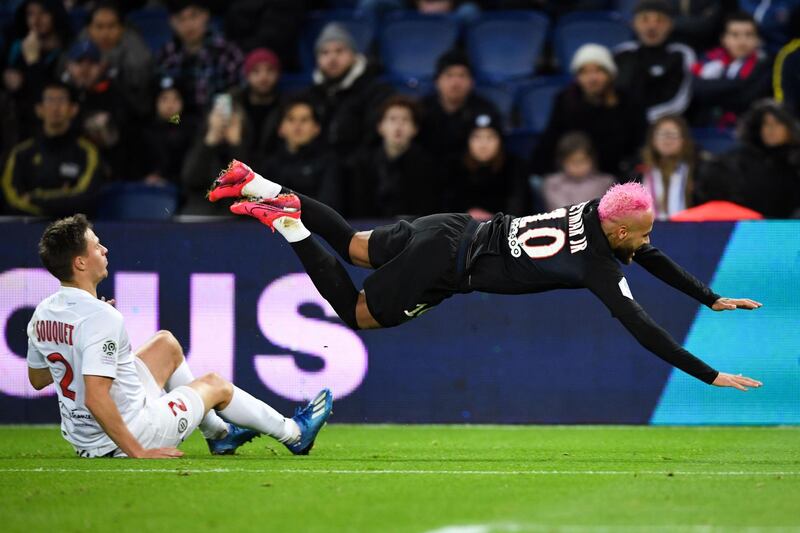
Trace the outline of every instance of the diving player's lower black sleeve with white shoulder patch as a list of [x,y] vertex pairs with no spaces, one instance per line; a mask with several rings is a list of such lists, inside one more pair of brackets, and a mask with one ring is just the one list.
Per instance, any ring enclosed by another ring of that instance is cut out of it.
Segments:
[[600,298],[643,347],[705,383],[711,384],[717,378],[716,370],[686,351],[650,318],[633,299],[628,283],[618,269],[596,269],[587,280],[587,288]]

